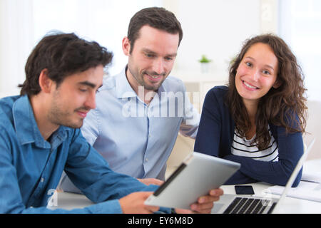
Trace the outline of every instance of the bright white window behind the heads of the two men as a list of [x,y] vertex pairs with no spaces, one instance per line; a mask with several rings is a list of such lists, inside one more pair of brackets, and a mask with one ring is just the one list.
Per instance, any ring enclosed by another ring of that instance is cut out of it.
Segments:
[[127,63],[121,41],[129,21],[140,9],[161,6],[161,0],[32,0],[34,45],[49,31],[75,32],[97,41],[114,58],[109,73],[119,73]]

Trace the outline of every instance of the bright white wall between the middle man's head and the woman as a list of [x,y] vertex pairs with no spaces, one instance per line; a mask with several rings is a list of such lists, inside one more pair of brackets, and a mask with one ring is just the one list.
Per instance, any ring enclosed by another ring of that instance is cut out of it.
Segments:
[[[170,3],[174,2],[174,3]],[[200,73],[198,60],[205,54],[213,62],[210,71],[216,80],[227,77],[228,63],[242,42],[260,33],[258,0],[177,0],[165,1],[183,27],[175,71]]]

